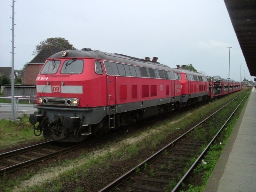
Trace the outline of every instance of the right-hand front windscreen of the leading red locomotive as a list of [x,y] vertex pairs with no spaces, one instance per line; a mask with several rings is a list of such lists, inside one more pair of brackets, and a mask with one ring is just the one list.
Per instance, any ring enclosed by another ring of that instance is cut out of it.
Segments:
[[76,60],[73,58],[72,60],[66,60],[61,68],[61,74],[80,74],[83,72],[84,61]]

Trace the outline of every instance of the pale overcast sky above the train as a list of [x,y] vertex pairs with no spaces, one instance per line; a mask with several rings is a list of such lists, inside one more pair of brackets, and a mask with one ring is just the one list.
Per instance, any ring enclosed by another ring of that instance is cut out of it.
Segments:
[[[223,0],[15,0],[14,68],[22,69],[40,41],[63,37],[133,57],[159,57],[175,68],[193,64],[208,76],[253,80]],[[11,67],[12,0],[0,3],[0,66]]]

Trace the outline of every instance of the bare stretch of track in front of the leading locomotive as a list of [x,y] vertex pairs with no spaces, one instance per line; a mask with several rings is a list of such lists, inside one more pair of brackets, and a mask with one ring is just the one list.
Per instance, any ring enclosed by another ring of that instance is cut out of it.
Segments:
[[67,153],[80,145],[83,143],[67,147],[54,141],[47,141],[0,154],[0,175]]

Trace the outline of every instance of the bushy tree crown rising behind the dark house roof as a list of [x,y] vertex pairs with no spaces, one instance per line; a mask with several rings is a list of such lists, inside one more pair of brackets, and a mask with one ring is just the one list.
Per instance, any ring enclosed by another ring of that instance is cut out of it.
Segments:
[[51,37],[47,38],[44,41],[41,41],[38,45],[36,45],[36,50],[33,51],[32,55],[37,55],[46,45],[53,45],[56,47],[61,47],[65,49],[73,49],[75,50],[76,48],[68,42],[67,39],[62,38],[62,37]]

